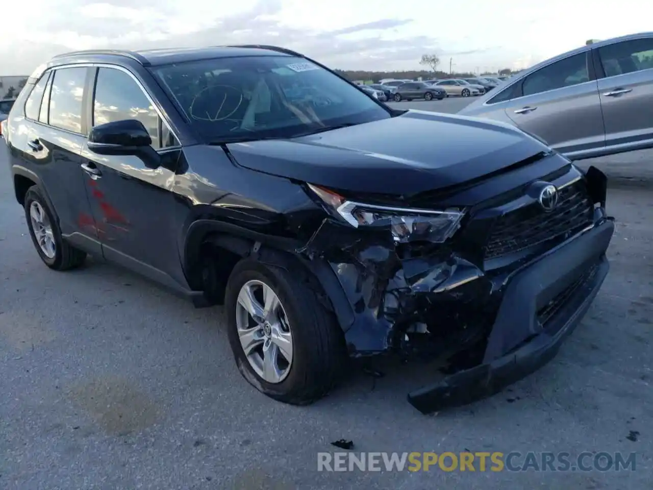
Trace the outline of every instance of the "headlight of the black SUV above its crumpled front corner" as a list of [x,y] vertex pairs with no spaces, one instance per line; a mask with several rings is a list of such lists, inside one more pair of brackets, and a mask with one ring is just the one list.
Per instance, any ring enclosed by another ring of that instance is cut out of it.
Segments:
[[308,184],[328,208],[355,228],[389,227],[398,243],[426,240],[442,243],[460,228],[464,212],[458,209],[426,210],[394,208],[349,201],[334,191]]

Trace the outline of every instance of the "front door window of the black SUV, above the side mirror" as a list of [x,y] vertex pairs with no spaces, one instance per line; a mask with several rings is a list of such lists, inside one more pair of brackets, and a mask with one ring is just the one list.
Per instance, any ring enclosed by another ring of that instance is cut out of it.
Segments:
[[172,146],[169,140],[174,138],[165,123],[162,123],[163,142],[159,140],[159,114],[135,80],[123,71],[100,68],[95,82],[93,125],[125,119],[142,122],[154,148]]

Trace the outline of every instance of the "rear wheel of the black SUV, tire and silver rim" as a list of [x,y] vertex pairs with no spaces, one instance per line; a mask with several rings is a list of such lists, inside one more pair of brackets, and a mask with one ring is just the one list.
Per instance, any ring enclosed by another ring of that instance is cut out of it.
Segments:
[[[63,240],[59,223],[54,218],[54,212],[48,206],[48,202],[44,199],[38,186],[31,186],[31,188],[27,189],[24,207],[29,236],[32,238],[34,247],[43,263],[54,270],[69,270],[80,267],[86,260],[86,252],[74,248]],[[39,209],[43,215],[43,225],[40,229],[35,229],[35,227],[39,227],[39,222],[33,219],[32,212]],[[46,242],[44,247],[39,243],[37,234],[39,237],[48,237],[41,240],[42,243]],[[52,244],[52,247],[48,246],[48,244]]]

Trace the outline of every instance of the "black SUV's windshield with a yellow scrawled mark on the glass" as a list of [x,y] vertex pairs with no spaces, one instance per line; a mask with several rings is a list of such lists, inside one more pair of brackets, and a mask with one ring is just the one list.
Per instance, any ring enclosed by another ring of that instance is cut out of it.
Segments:
[[153,73],[208,142],[293,138],[390,118],[374,99],[301,57],[204,59]]

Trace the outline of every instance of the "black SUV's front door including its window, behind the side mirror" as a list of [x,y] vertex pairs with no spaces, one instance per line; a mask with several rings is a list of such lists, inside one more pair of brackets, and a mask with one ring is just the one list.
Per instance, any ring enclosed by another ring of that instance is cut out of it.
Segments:
[[93,216],[107,260],[176,288],[185,282],[172,193],[174,163],[181,150],[173,137],[161,141],[161,134],[169,133],[161,131],[159,114],[135,78],[119,69],[100,67],[92,125],[131,118],[148,129],[153,147],[165,154],[168,168],[148,169],[136,156],[98,155],[85,145],[82,157]]

